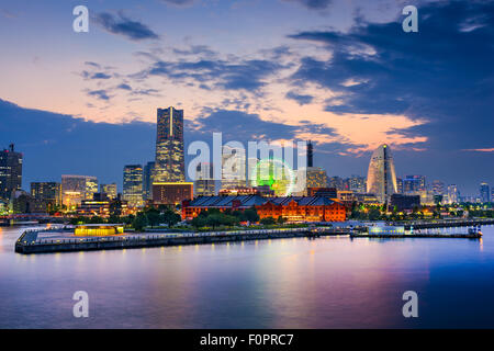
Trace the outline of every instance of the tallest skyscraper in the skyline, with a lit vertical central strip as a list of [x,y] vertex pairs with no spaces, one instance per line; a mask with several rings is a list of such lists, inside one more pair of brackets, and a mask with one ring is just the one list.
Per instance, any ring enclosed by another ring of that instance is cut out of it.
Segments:
[[184,182],[183,110],[158,109],[153,182]]

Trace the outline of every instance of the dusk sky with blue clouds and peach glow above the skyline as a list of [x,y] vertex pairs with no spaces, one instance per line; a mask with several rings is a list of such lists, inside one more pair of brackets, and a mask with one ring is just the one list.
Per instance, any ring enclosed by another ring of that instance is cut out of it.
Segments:
[[493,19],[485,0],[1,1],[0,148],[24,154],[26,189],[122,184],[172,105],[187,145],[311,139],[315,166],[349,177],[386,143],[398,177],[478,194],[494,185]]

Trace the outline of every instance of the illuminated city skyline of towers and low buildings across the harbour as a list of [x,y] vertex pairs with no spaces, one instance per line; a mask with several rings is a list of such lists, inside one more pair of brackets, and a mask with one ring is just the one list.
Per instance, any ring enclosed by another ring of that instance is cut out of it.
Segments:
[[[182,217],[191,218],[206,208],[255,206],[261,217],[341,220],[343,208],[350,211],[355,204],[385,204],[403,212],[422,205],[494,202],[494,189],[486,182],[480,184],[478,196],[461,196],[456,184],[427,183],[420,174],[397,177],[386,144],[373,151],[367,177],[340,178],[328,177],[324,168],[314,165],[314,145],[308,141],[302,167],[305,186],[296,192],[290,188],[296,179],[289,177],[283,160],[271,156],[251,159],[250,155],[247,159],[244,149],[228,144],[221,148],[221,179],[214,177],[214,163],[200,162],[194,182],[188,182],[183,133],[183,110],[158,109],[154,160],[124,166],[121,193],[116,182],[99,184],[96,177],[77,174],[63,174],[59,182],[32,182],[27,193],[22,190],[23,155],[10,145],[0,151],[0,214],[60,212],[108,217],[133,214],[148,205],[182,205]],[[252,179],[247,178],[248,165],[256,166]],[[280,170],[282,177],[274,178]],[[266,178],[259,176],[262,172]]]

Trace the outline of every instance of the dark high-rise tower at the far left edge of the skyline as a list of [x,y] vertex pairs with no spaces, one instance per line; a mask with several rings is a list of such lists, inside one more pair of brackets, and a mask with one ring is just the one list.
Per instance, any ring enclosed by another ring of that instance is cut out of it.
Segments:
[[12,191],[22,186],[22,154],[14,151],[11,144],[9,149],[0,151],[0,200],[9,201]]

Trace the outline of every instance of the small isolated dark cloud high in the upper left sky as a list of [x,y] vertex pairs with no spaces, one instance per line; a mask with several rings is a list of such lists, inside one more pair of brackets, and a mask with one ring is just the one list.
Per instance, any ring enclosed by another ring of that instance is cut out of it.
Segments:
[[122,13],[113,15],[108,12],[97,14],[96,22],[106,32],[122,35],[131,41],[157,39],[159,35],[153,32],[147,25],[138,21],[133,21]]

